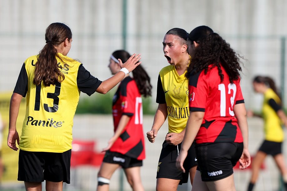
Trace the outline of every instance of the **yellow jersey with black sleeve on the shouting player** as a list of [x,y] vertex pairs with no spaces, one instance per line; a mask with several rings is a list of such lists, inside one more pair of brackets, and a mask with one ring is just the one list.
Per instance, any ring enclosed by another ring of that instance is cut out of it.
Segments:
[[166,66],[158,76],[156,102],[166,103],[168,132],[180,133],[186,127],[189,117],[188,79],[179,76],[175,66]]

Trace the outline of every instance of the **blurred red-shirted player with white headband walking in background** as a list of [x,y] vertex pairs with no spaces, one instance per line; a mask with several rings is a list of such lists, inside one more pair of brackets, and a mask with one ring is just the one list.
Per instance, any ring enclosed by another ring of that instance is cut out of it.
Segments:
[[[109,68],[112,74],[121,70],[118,59],[126,61],[130,54],[125,50],[112,53]],[[151,96],[150,77],[141,66],[126,75],[113,97],[112,114],[115,134],[108,142],[103,163],[98,173],[98,191],[109,190],[112,174],[121,166],[133,190],[144,190],[140,167],[145,159],[145,142],[142,129],[142,99]]]

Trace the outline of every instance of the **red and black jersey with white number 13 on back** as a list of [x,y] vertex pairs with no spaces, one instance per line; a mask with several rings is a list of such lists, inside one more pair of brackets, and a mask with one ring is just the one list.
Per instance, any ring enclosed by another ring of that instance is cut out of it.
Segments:
[[244,103],[240,79],[230,83],[229,76],[221,66],[223,81],[218,68],[210,65],[189,77],[190,111],[205,112],[204,119],[196,135],[197,144],[213,142],[243,142],[233,107]]

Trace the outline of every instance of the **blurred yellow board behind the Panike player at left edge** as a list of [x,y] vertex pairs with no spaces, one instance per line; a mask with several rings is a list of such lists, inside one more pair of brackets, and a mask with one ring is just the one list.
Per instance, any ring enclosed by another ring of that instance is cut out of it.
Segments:
[[[14,151],[7,146],[7,135],[9,130],[8,126],[9,105],[12,93],[13,93],[12,91],[0,92],[0,113],[2,115],[2,121],[4,123],[3,140],[2,143],[0,143],[2,144],[1,155],[5,169],[2,177],[3,183],[17,181],[17,175],[18,175],[19,150]],[[25,118],[25,113],[26,113],[26,98],[22,98],[16,124],[16,129],[19,133],[19,136],[21,135],[22,132],[22,124]]]

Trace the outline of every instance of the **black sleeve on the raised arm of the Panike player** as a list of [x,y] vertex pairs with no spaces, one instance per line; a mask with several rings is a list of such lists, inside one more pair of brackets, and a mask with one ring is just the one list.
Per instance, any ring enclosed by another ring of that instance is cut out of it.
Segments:
[[83,64],[79,66],[77,85],[80,91],[91,96],[101,85],[101,82],[102,81],[92,76],[90,72],[84,68]]

